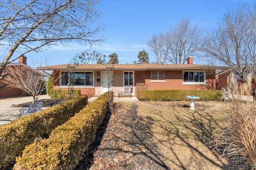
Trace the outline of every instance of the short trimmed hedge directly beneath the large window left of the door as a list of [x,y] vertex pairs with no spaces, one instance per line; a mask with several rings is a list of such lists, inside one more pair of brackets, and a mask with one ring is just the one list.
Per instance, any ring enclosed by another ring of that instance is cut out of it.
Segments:
[[[81,90],[74,90],[74,98],[78,98],[80,96]],[[70,96],[68,95],[67,89],[61,90],[51,90],[48,94],[53,100],[60,100],[60,99],[69,99]]]

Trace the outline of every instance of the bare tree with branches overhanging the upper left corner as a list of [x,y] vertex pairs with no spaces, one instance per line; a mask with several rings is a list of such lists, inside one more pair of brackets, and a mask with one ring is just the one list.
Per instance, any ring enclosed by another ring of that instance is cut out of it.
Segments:
[[[100,43],[96,35],[102,25],[98,0],[4,0],[0,2],[0,45],[4,47],[0,80],[6,64],[30,51],[42,51],[52,45]],[[14,57],[11,59],[11,57]],[[2,88],[2,87],[0,87]]]

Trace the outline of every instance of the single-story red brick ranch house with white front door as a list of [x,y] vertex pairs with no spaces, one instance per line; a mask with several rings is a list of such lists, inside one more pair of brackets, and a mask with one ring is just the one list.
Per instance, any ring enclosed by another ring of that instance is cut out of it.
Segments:
[[[215,89],[215,70],[210,66],[193,64],[114,64],[114,96],[118,89],[128,87],[132,96],[137,96],[138,83],[147,84],[148,89]],[[38,70],[53,70],[54,89],[68,89],[67,65],[38,67]],[[88,97],[100,96],[108,91],[106,67],[101,64],[82,64],[75,72],[74,90]],[[56,80],[57,79],[57,80]]]

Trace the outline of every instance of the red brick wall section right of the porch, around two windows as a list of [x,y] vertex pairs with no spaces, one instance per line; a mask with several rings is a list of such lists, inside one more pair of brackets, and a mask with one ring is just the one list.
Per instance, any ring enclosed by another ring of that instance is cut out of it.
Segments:
[[165,82],[150,82],[151,71],[135,71],[135,96],[137,96],[137,83],[148,84],[148,89],[215,89],[215,74],[206,72],[206,82],[208,85],[183,84],[183,71],[165,71]]

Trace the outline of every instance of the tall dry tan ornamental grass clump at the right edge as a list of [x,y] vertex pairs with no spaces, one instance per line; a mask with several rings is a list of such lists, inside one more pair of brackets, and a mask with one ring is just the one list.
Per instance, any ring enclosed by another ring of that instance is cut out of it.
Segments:
[[238,86],[234,76],[230,78],[228,92],[232,100],[227,103],[231,108],[228,124],[226,127],[214,127],[209,143],[233,167],[243,169],[256,168],[256,103],[253,100],[244,101],[244,96],[247,99],[251,96],[251,79],[249,74],[249,83]]

